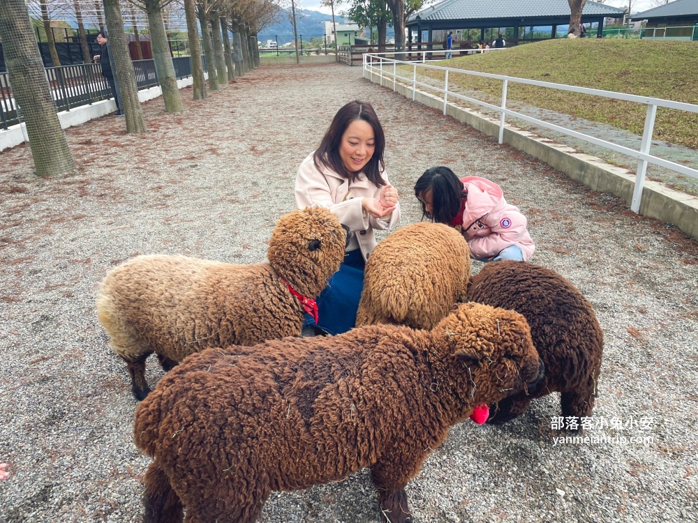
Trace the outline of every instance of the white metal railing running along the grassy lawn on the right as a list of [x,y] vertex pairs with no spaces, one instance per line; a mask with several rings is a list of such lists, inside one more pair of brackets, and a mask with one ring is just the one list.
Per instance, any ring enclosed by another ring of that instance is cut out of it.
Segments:
[[[383,84],[383,79],[392,79],[393,91],[396,90],[396,84],[398,79],[401,84],[412,87],[412,99],[415,100],[417,93],[417,86],[429,89],[431,91],[436,91],[443,95],[443,114],[446,114],[446,109],[448,107],[448,98],[456,98],[463,100],[468,103],[475,105],[480,105],[481,107],[487,107],[500,114],[499,121],[499,143],[504,142],[504,126],[505,119],[507,116],[512,116],[529,123],[533,123],[537,126],[554,130],[560,132],[563,135],[571,136],[577,139],[584,140],[584,142],[589,142],[598,146],[602,146],[606,149],[611,149],[611,151],[616,151],[630,156],[631,158],[636,158],[637,163],[637,174],[635,176],[634,190],[632,192],[632,202],[630,204],[630,209],[635,213],[639,213],[640,201],[642,197],[642,189],[644,187],[645,174],[647,172],[647,165],[649,163],[653,165],[658,165],[666,169],[670,169],[674,172],[679,172],[685,174],[686,176],[691,176],[693,178],[698,178],[698,170],[691,169],[685,165],[679,163],[671,162],[669,160],[664,160],[664,158],[659,158],[658,156],[653,156],[650,154],[650,147],[652,144],[652,133],[654,130],[655,117],[657,116],[657,107],[667,107],[668,109],[678,109],[679,111],[687,111],[692,113],[698,113],[698,105],[693,105],[690,103],[674,102],[672,100],[664,100],[663,98],[651,98],[648,96],[637,96],[633,94],[616,93],[614,91],[603,91],[602,89],[591,89],[588,87],[579,87],[566,84],[554,84],[551,82],[540,82],[539,80],[530,80],[526,78],[516,78],[505,75],[493,75],[491,73],[480,73],[479,71],[470,71],[465,69],[456,69],[450,67],[433,66],[428,63],[418,63],[417,61],[401,61],[393,58],[388,58],[387,56],[381,56],[384,54],[407,54],[407,52],[392,52],[392,53],[373,53],[364,54],[364,76],[366,73],[371,75],[380,76],[380,84]],[[398,74],[398,66],[404,68],[412,68],[412,77],[403,77]],[[424,82],[417,81],[417,67],[443,71],[444,73],[444,86],[443,89],[440,87],[433,86],[431,84],[425,84]],[[463,74],[463,75],[473,75],[484,78],[491,78],[501,80],[503,82],[502,86],[502,99],[501,105],[493,105],[491,103],[483,102],[482,100],[477,100],[475,98],[470,98],[470,96],[464,96],[460,93],[454,91],[449,91],[448,89],[448,77],[449,73],[452,74]],[[615,100],[626,100],[628,102],[641,103],[647,106],[647,113],[644,123],[644,132],[642,134],[642,142],[640,145],[640,150],[630,149],[622,145],[614,144],[613,142],[607,142],[604,139],[593,137],[591,135],[586,135],[583,132],[578,132],[575,130],[567,129],[561,126],[556,126],[554,123],[549,123],[533,116],[528,116],[527,114],[522,114],[520,112],[512,111],[507,109],[507,88],[509,83],[526,84],[538,87],[545,87],[548,89],[557,89],[560,91],[569,91],[572,93],[582,93],[593,96],[601,96],[603,98],[614,98]]]

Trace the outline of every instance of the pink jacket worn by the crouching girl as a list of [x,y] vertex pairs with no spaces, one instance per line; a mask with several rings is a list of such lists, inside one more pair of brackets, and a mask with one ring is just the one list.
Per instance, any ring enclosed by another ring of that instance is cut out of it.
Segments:
[[477,259],[493,258],[510,245],[517,245],[523,259],[528,260],[535,243],[526,229],[526,216],[507,204],[496,183],[480,176],[466,176],[461,181],[468,191],[461,232],[470,245],[470,254]]

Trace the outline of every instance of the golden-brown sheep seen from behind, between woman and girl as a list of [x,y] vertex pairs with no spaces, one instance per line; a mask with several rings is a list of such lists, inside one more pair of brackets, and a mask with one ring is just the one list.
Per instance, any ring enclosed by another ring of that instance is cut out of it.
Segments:
[[466,294],[468,242],[452,227],[419,222],[397,229],[366,261],[356,324],[433,328]]

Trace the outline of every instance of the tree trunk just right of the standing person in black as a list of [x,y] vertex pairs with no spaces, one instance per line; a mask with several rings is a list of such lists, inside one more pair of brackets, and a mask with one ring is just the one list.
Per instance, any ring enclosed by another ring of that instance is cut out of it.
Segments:
[[128,53],[124,20],[121,19],[119,0],[104,0],[104,17],[109,31],[110,59],[114,80],[121,91],[121,110],[126,113],[126,132],[140,134],[146,132],[143,110],[138,100],[138,86],[135,83],[131,54]]

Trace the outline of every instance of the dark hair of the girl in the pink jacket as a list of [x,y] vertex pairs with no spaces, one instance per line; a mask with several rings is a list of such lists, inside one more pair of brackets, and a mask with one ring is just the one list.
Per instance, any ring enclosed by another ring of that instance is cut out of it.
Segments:
[[[426,211],[422,196],[431,191],[431,213]],[[431,167],[415,183],[415,196],[422,204],[422,220],[450,224],[461,211],[463,182],[448,167]]]

